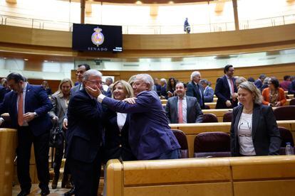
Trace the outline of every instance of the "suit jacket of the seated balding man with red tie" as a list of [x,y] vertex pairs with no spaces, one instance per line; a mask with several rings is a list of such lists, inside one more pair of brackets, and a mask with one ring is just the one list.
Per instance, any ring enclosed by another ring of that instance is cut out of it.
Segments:
[[[195,97],[186,97],[187,99],[187,123],[201,123],[203,113],[200,104]],[[170,97],[167,101],[165,111],[169,123],[178,123],[178,97]]]

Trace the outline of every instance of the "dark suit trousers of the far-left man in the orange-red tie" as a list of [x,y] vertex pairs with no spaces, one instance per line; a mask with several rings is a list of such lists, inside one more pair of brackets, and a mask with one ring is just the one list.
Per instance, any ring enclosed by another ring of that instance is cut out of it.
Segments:
[[31,178],[29,173],[31,146],[33,143],[39,187],[41,190],[48,190],[49,168],[49,131],[41,136],[33,136],[29,126],[19,126],[17,131],[19,145],[16,148],[17,154],[17,176],[21,190],[31,189]]

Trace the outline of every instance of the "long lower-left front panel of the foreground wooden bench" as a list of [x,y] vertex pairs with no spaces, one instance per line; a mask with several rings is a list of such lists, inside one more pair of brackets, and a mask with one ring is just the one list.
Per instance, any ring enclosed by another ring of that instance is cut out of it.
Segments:
[[230,183],[205,183],[187,185],[161,185],[148,187],[125,187],[124,196],[231,196],[232,188]]

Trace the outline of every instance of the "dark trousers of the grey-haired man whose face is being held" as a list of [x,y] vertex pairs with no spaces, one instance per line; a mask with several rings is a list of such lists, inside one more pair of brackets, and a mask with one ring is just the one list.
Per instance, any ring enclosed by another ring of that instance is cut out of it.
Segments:
[[68,157],[76,196],[97,196],[101,170],[101,153],[98,151],[92,163]]

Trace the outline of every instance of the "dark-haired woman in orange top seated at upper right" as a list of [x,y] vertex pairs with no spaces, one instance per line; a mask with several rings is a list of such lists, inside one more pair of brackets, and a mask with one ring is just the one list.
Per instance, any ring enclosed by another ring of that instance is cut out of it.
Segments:
[[280,107],[286,103],[284,89],[279,87],[279,80],[271,77],[269,87],[262,92],[263,104],[271,107]]

